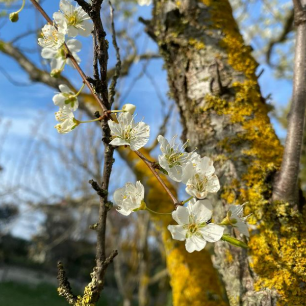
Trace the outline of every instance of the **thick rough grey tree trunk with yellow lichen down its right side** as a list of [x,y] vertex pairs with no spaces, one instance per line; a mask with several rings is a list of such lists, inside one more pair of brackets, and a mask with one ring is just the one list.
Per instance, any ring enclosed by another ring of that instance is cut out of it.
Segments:
[[215,219],[224,216],[228,204],[249,202],[250,250],[224,242],[215,246],[214,263],[231,305],[303,305],[305,214],[271,201],[283,148],[260,93],[258,64],[244,45],[230,4],[156,1],[152,20],[143,22],[164,58],[184,141],[213,158],[218,169],[222,189],[212,198]]

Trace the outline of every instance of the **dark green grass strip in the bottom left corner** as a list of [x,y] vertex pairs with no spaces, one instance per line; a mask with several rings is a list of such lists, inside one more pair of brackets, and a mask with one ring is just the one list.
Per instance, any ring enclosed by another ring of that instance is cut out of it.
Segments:
[[[48,284],[38,286],[0,283],[0,305],[3,306],[68,306],[64,298],[57,295],[56,287]],[[102,301],[100,306],[107,306]]]

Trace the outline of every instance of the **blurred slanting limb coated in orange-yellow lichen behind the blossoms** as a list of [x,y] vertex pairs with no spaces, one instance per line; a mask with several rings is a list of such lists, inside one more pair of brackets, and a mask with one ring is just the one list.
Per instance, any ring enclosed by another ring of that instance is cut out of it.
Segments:
[[[158,212],[173,211],[173,203],[169,195],[161,187],[156,177],[150,172],[136,154],[129,148],[119,148],[120,155],[131,166],[138,180],[146,188],[147,206]],[[152,160],[145,149],[142,154]],[[175,194],[174,187],[163,176],[164,181]],[[184,242],[173,240],[167,226],[174,223],[170,216],[151,215],[156,227],[162,233],[166,250],[166,262],[172,287],[174,306],[225,306],[222,300],[218,275],[213,268],[211,256],[207,250],[188,253]]]

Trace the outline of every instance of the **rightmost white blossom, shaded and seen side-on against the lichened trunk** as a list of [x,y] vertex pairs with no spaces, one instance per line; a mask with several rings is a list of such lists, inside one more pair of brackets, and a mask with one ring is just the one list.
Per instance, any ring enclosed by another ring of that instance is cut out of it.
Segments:
[[249,237],[250,235],[246,224],[249,215],[245,217],[243,216],[243,207],[245,204],[246,203],[243,205],[230,205],[230,210],[227,212],[225,222],[222,221],[222,223],[224,223],[224,225],[232,225],[233,227],[236,227],[241,234]]

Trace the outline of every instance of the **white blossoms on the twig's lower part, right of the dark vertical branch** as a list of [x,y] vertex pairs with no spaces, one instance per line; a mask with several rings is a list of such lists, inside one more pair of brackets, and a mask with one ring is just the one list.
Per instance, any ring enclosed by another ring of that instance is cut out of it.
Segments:
[[[116,120],[108,121],[113,137],[110,144],[130,146],[133,151],[146,145],[150,127],[142,121],[135,122],[133,113],[122,112]],[[175,142],[176,137],[170,142],[162,135],[157,138],[161,149],[159,167],[173,181],[185,184],[185,191],[190,195],[188,200],[181,202],[182,205],[172,212],[172,218],[177,223],[168,225],[172,238],[185,241],[186,250],[193,252],[203,249],[207,242],[217,242],[224,238],[225,226],[236,227],[240,233],[249,236],[246,225],[248,216],[243,216],[243,205],[231,205],[221,223],[212,222],[213,206],[206,197],[220,189],[213,161],[208,157],[201,157],[195,151],[187,152],[188,141],[178,145]],[[144,186],[140,181],[136,185],[126,183],[123,188],[115,191],[113,199],[118,206],[117,211],[124,216],[139,210],[149,210],[144,202]],[[184,206],[186,202],[188,204]]]

